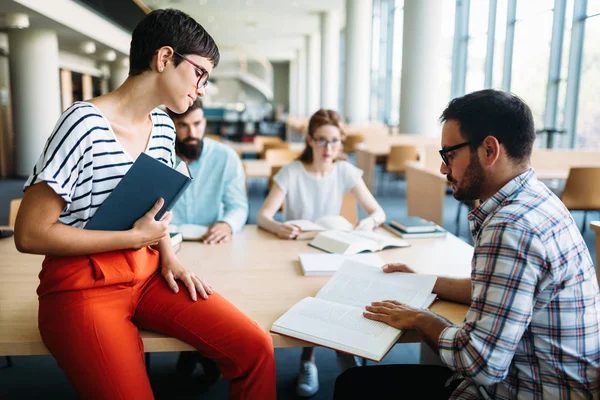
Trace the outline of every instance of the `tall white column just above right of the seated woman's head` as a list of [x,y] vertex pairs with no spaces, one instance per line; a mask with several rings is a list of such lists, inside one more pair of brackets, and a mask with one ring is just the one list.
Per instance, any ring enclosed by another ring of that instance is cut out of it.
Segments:
[[355,124],[369,121],[372,19],[372,0],[346,0],[344,116]]

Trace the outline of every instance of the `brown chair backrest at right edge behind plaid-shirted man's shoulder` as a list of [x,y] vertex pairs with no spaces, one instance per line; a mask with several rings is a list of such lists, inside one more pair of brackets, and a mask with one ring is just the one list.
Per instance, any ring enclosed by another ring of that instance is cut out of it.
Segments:
[[600,210],[600,167],[571,168],[561,200],[569,210]]

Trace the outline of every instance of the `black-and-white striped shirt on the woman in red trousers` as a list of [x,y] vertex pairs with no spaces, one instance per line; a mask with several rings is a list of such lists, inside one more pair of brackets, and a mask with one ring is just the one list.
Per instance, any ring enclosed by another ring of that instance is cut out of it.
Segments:
[[[152,133],[144,152],[173,168],[173,121],[159,109],[151,118]],[[76,102],[56,123],[23,191],[46,182],[66,202],[58,221],[83,228],[133,162],[102,112],[91,103]]]

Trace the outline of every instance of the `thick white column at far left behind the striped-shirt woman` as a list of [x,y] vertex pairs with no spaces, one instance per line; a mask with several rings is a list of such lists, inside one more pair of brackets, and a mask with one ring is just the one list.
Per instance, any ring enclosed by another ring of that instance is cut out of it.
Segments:
[[9,65],[15,130],[15,173],[33,171],[60,117],[60,73],[56,32],[11,30]]

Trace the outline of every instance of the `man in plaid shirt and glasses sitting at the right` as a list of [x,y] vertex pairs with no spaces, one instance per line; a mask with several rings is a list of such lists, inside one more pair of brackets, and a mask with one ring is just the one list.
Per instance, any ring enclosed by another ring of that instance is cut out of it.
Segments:
[[530,168],[531,110],[483,90],[451,101],[441,121],[440,171],[457,200],[482,204],[469,215],[471,278],[439,277],[434,292],[469,312],[453,326],[394,301],[367,306],[369,319],[417,330],[445,366],[353,368],[335,398],[597,399],[596,272],[571,214]]

